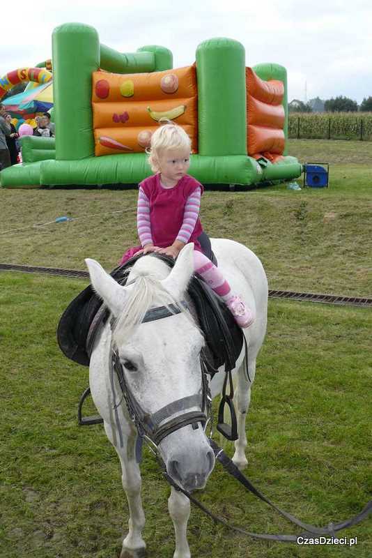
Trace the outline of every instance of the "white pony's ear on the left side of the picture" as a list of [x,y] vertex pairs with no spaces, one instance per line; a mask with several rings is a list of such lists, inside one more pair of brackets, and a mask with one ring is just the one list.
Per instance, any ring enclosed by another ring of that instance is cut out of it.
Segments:
[[125,306],[125,288],[118,285],[116,280],[106,273],[95,259],[86,258],[85,263],[91,276],[93,289],[100,295],[112,314],[117,317],[123,312]]

